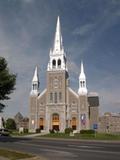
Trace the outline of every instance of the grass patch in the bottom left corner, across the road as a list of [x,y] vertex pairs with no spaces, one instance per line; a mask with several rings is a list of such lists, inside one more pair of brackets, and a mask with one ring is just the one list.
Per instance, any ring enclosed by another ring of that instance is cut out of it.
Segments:
[[34,157],[33,155],[30,154],[21,153],[17,151],[10,151],[2,148],[0,148],[0,156],[9,158],[10,160],[19,160],[19,159]]

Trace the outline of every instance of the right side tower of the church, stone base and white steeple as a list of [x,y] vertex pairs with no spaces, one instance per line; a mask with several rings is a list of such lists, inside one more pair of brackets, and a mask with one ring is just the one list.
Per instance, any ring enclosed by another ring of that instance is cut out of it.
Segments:
[[84,73],[83,62],[81,62],[81,71],[79,76],[79,119],[80,119],[80,130],[89,129],[89,106],[87,96],[86,76]]

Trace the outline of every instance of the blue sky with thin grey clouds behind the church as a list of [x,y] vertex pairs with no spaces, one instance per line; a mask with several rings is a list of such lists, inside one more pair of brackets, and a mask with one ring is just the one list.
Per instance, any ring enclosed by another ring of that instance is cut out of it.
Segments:
[[16,90],[6,102],[4,115],[28,114],[36,65],[40,91],[45,88],[58,15],[71,88],[78,90],[83,60],[87,88],[100,96],[100,114],[120,112],[119,0],[0,0],[0,56],[17,74]]

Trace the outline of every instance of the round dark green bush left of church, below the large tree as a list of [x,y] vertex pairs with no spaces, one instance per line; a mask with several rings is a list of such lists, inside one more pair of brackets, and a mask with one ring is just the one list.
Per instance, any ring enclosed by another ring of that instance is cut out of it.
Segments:
[[5,128],[11,129],[11,130],[16,129],[16,123],[15,123],[14,119],[8,118],[5,123]]

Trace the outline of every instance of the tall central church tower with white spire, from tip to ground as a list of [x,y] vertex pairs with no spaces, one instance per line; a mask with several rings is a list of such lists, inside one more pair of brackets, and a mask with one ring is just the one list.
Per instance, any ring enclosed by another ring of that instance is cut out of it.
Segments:
[[[66,54],[64,52],[60,18],[57,19],[56,33],[53,48],[50,49],[50,59],[47,67],[47,130],[64,131],[66,124],[66,92],[68,71]],[[57,119],[55,122],[54,119]]]

